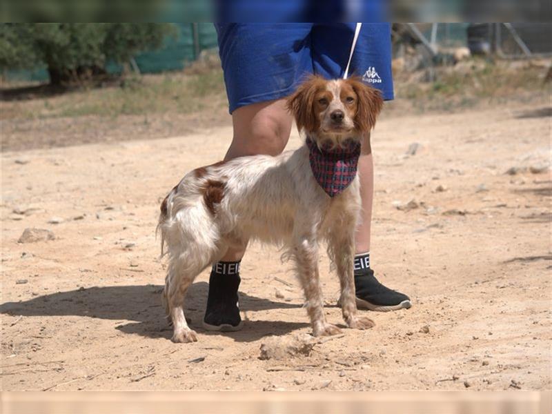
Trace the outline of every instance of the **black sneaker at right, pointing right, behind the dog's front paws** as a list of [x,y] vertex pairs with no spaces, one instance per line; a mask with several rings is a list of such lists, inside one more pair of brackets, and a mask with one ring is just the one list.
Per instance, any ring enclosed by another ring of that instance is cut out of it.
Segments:
[[355,270],[355,293],[359,309],[388,312],[412,306],[410,298],[404,293],[386,288],[378,282],[371,268]]

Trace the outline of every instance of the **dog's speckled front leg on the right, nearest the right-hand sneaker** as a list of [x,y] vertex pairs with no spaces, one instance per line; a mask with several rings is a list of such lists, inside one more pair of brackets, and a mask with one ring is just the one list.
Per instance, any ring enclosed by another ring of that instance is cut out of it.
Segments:
[[375,326],[372,319],[357,315],[355,299],[355,234],[352,226],[341,226],[333,229],[328,249],[333,251],[333,258],[339,285],[341,286],[341,303],[343,319],[349,328],[368,329]]

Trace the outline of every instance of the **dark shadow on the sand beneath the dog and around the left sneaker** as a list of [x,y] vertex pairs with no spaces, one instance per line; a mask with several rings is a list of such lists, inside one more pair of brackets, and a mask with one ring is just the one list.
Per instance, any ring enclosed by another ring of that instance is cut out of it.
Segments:
[[[165,319],[161,307],[160,285],[141,286],[105,286],[79,288],[68,292],[52,293],[23,302],[6,302],[0,305],[0,313],[12,316],[67,316],[75,315],[99,319],[120,320],[115,326],[121,332],[142,335],[150,338],[170,338],[172,328]],[[208,335],[228,335],[238,342],[251,342],[266,335],[284,335],[298,328],[308,326],[305,323],[246,321],[242,331],[234,333],[213,333],[201,328],[207,300],[208,284],[198,282],[190,286],[185,301],[186,317],[192,319],[191,328]],[[239,293],[242,311],[264,311],[268,309],[301,308],[302,304],[273,302]],[[299,312],[301,312],[299,310]],[[134,322],[128,322],[134,321]]]

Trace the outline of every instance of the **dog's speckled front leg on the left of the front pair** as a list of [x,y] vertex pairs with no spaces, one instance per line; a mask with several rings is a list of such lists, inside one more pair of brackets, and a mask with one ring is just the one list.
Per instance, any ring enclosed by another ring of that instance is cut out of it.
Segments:
[[318,273],[318,244],[314,237],[297,237],[293,247],[299,281],[303,286],[306,311],[313,324],[313,335],[336,335],[337,326],[326,323],[322,302],[322,288]]

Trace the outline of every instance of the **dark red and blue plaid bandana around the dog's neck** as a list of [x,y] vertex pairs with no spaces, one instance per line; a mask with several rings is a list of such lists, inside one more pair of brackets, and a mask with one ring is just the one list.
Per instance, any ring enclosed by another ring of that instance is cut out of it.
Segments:
[[330,197],[341,194],[357,175],[360,143],[351,141],[342,148],[318,148],[315,141],[306,139],[308,161],[315,180]]

